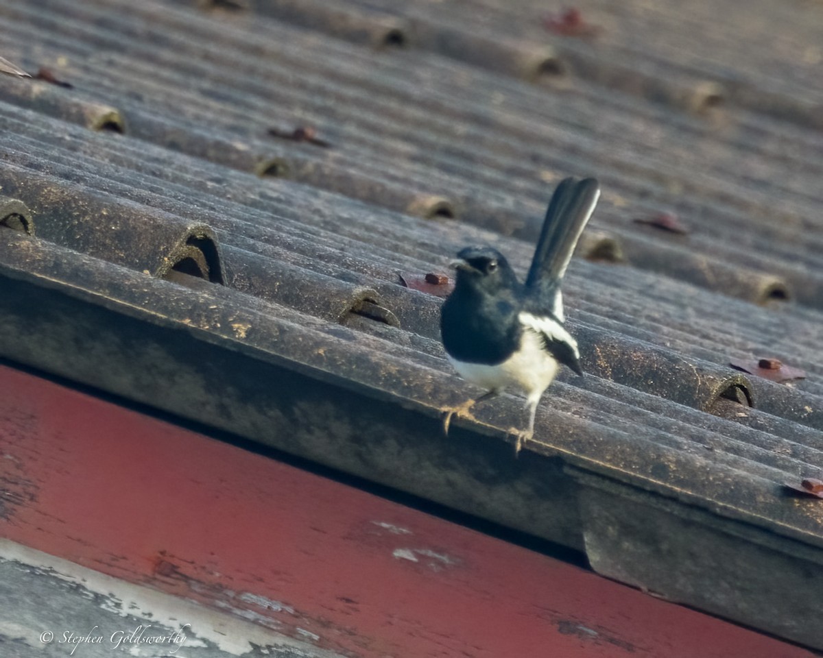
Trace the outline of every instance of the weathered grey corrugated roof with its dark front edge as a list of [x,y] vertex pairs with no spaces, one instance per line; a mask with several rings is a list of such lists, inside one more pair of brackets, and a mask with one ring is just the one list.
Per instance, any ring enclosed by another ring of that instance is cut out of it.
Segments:
[[[823,9],[395,4],[2,3],[3,56],[72,85],[0,79],[2,355],[823,646],[823,505],[781,489],[823,476]],[[474,242],[524,271],[569,174],[604,189],[565,286],[588,375],[516,461],[516,397],[446,439],[472,390],[400,275]],[[760,358],[807,378],[729,367]]]

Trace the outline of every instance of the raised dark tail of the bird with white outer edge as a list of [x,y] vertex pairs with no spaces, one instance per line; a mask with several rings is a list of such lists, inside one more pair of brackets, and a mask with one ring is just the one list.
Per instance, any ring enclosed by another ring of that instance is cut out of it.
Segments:
[[[600,197],[600,185],[595,178],[564,178],[557,186],[546,210],[546,219],[537,240],[532,266],[526,278],[530,296],[539,296],[558,307],[555,313],[562,321],[560,280],[569,266],[574,247],[592,216]],[[553,298],[557,298],[557,303]]]

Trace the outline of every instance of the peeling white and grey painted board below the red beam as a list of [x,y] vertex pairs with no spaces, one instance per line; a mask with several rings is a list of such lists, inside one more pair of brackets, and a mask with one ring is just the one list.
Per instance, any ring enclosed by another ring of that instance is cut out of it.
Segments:
[[[0,539],[0,571],[2,587],[6,588],[3,595],[20,597],[20,605],[0,606],[0,636],[44,651],[44,656],[67,656],[70,649],[60,640],[62,633],[71,631],[103,637],[100,643],[78,644],[76,656],[109,658],[119,654],[114,647],[119,638],[135,630],[139,634],[142,628],[144,636],[170,636],[182,629],[185,640],[179,644],[181,651],[174,651],[177,645],[170,642],[163,647],[163,655],[168,656],[341,658],[234,615],[106,576],[9,540]],[[53,641],[44,643],[44,633],[53,633]],[[318,639],[312,636],[309,633],[306,637]],[[121,650],[126,646],[124,643]],[[160,646],[132,644],[128,653],[157,656]]]

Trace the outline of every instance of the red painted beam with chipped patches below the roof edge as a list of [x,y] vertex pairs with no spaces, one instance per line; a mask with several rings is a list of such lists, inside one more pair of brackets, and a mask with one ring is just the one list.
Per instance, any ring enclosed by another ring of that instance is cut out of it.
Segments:
[[0,367],[0,534],[364,658],[811,658]]

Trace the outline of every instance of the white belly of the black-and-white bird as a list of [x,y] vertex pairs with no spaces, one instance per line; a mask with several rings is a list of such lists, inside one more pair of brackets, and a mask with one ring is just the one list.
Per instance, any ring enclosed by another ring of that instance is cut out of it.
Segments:
[[523,331],[520,349],[509,359],[497,365],[469,364],[455,361],[449,354],[449,361],[459,375],[467,382],[490,391],[514,388],[525,392],[529,399],[539,398],[554,380],[558,363],[543,348],[542,340],[534,331]]

